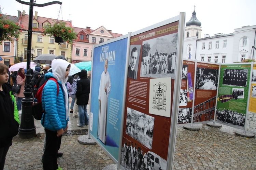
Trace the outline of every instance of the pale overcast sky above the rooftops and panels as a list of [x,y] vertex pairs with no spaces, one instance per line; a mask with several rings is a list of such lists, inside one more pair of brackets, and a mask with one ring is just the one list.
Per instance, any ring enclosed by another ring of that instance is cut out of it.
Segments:
[[[29,0],[23,0],[29,2]],[[54,1],[54,0],[53,0]],[[256,0],[59,0],[62,2],[62,15],[59,19],[72,20],[74,27],[97,29],[104,26],[113,33],[128,34],[155,23],[186,13],[186,22],[192,12],[197,13],[197,19],[202,23],[202,37],[204,34],[214,36],[216,33],[228,34],[242,26],[256,25]],[[52,2],[36,0],[37,4]],[[2,13],[17,16],[17,11],[26,11],[29,6],[15,0],[0,0]],[[58,18],[59,4],[45,7],[34,7],[38,16]]]

